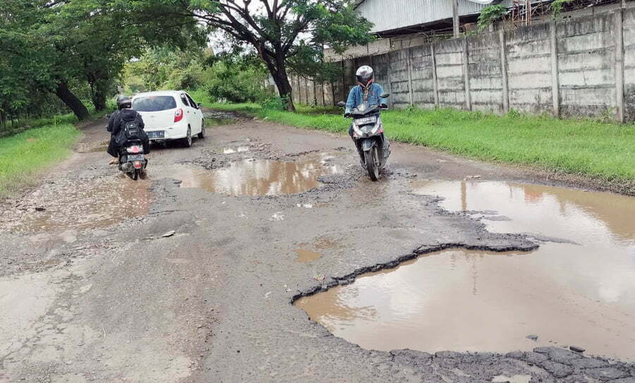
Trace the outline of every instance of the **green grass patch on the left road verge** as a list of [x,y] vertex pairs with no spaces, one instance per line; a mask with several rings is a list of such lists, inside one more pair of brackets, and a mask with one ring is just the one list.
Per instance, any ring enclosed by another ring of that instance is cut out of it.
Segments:
[[61,123],[0,138],[0,197],[15,193],[42,170],[68,157],[79,135],[71,123]]

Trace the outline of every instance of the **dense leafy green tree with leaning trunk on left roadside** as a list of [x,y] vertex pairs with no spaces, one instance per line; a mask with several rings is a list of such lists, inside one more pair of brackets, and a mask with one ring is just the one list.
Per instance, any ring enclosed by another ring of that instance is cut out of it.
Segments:
[[158,4],[138,13],[131,12],[134,3],[6,0],[0,8],[0,56],[20,68],[10,74],[13,92],[21,84],[53,92],[79,119],[87,119],[90,114],[73,85],[87,84],[95,109],[101,110],[123,64],[145,47],[205,41],[196,20],[175,16],[174,6]]

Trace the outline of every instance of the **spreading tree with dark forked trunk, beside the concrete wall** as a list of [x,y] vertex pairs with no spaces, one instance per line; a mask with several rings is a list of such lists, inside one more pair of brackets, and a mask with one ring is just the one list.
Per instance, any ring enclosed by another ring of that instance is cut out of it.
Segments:
[[[148,1],[147,6],[156,4]],[[351,0],[161,0],[181,3],[182,11],[224,32],[234,45],[253,47],[272,75],[286,109],[294,111],[288,69],[318,76],[329,71],[325,45],[344,51],[366,44],[372,24]],[[181,13],[183,14],[183,13]]]

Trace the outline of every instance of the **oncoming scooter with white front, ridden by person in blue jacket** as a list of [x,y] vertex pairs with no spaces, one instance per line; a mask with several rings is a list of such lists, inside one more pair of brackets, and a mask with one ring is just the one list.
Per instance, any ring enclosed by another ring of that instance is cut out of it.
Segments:
[[[389,97],[383,94],[382,98]],[[338,102],[338,107],[346,107],[346,103]],[[390,143],[384,135],[379,105],[370,105],[367,101],[351,109],[353,118],[353,141],[359,153],[362,166],[368,171],[371,180],[377,181],[390,155]]]

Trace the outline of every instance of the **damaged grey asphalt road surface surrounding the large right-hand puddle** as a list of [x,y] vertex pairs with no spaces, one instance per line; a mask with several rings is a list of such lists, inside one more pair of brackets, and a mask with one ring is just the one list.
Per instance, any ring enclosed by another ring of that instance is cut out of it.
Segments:
[[490,231],[411,187],[536,181],[526,174],[395,144],[373,183],[347,137],[243,119],[190,149],[155,147],[134,183],[95,149],[103,126],[1,205],[0,382],[635,379],[630,362],[560,345],[366,350],[292,304],[437,250],[536,250],[536,236]]

